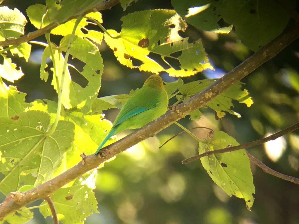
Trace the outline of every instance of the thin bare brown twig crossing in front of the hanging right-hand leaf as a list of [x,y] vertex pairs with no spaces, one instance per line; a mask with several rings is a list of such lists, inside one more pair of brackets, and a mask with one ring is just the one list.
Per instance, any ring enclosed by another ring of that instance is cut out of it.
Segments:
[[255,145],[260,145],[260,144],[263,144],[265,142],[269,142],[270,140],[277,139],[278,137],[283,136],[283,135],[285,135],[289,132],[292,132],[292,131],[294,131],[298,128],[299,128],[299,122],[292,125],[292,126],[290,126],[289,128],[286,128],[282,131],[278,131],[275,134],[272,134],[272,135],[270,135],[266,138],[255,140],[253,142],[249,142],[249,143],[246,143],[246,144],[243,144],[243,145],[237,145],[237,146],[217,149],[217,150],[213,150],[213,151],[206,151],[206,152],[204,152],[202,154],[199,154],[197,156],[193,156],[193,157],[190,157],[188,159],[184,159],[182,161],[182,163],[189,163],[189,162],[192,162],[196,159],[200,159],[202,157],[213,155],[213,154],[224,153],[224,152],[232,152],[232,151],[236,151],[236,150],[239,150],[239,149],[242,149],[242,148],[249,148],[249,147],[252,147],[252,146],[255,146]]

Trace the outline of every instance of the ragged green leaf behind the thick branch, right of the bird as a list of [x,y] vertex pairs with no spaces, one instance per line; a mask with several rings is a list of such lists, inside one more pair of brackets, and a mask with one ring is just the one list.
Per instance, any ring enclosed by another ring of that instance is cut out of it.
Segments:
[[[199,81],[189,82],[184,84],[179,91],[183,95],[183,99],[188,99],[201,90],[208,87],[215,82],[216,79],[203,79]],[[248,107],[253,103],[251,96],[246,89],[241,90],[241,82],[237,82],[223,93],[217,95],[214,99],[207,103],[207,106],[216,112],[216,116],[220,119],[225,116],[223,111],[227,111],[230,114],[241,117],[241,115],[231,108],[234,106],[232,100],[237,100],[239,103],[245,103]]]

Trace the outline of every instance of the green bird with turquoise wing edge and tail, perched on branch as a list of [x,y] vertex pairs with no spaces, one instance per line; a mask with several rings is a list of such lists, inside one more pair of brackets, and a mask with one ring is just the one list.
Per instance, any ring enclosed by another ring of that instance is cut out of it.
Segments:
[[141,128],[147,123],[163,115],[168,106],[168,95],[163,80],[152,75],[145,80],[143,86],[123,104],[113,122],[113,126],[95,154],[98,154],[107,140],[125,129]]

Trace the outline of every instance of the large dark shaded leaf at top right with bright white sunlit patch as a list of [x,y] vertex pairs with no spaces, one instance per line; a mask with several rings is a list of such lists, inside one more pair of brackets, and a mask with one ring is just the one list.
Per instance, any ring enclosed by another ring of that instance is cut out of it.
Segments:
[[[290,18],[285,9],[295,7],[295,1],[284,1],[282,4],[286,6],[281,7],[271,0],[172,0],[171,3],[188,23],[200,29],[219,31],[219,24],[234,25],[238,38],[254,51],[282,32]],[[220,31],[225,32],[222,27]]]

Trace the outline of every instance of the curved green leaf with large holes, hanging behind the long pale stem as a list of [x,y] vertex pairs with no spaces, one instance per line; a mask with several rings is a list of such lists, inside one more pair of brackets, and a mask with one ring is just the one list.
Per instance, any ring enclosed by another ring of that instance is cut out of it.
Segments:
[[[69,35],[62,38],[59,49],[65,51],[68,44]],[[80,74],[88,81],[86,87],[71,82],[69,86],[69,98],[71,107],[78,107],[85,114],[88,113],[92,102],[97,98],[97,93],[101,86],[101,76],[103,73],[103,59],[97,47],[91,42],[74,36],[70,54],[85,63]],[[59,79],[61,79],[59,77]]]

